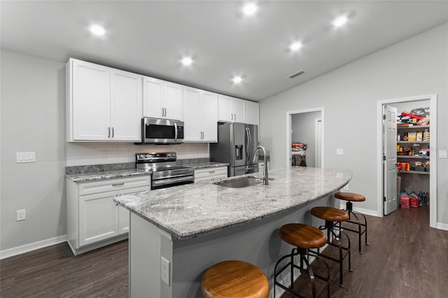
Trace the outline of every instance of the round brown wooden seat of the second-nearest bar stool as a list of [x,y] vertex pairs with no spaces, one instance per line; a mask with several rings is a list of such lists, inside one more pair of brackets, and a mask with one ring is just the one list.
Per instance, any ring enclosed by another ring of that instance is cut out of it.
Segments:
[[281,226],[279,236],[286,243],[298,248],[321,248],[327,243],[327,236],[320,229],[299,223]]

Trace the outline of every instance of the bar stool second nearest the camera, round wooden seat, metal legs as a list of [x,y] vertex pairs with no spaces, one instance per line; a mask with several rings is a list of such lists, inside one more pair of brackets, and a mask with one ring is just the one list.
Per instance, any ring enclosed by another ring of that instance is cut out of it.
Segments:
[[[288,225],[281,226],[279,230],[280,238],[289,243],[292,246],[295,246],[293,250],[291,250],[290,255],[284,255],[281,257],[275,264],[274,267],[274,297],[275,297],[275,286],[278,285],[283,290],[286,290],[290,295],[294,295],[295,297],[302,297],[299,293],[293,290],[294,285],[294,269],[299,269],[300,273],[306,272],[309,274],[309,278],[311,279],[311,291],[313,297],[316,297],[316,278],[323,281],[327,288],[327,296],[330,297],[330,269],[328,268],[327,263],[321,259],[321,257],[316,256],[318,260],[321,260],[325,267],[327,267],[328,274],[327,276],[320,276],[315,274],[312,267],[309,265],[309,250],[311,248],[321,248],[325,246],[327,243],[327,237],[320,229],[313,227],[311,225],[303,225],[298,223],[291,223]],[[296,255],[300,255],[300,266],[294,264],[294,257]],[[286,258],[290,258],[290,261],[285,264],[281,269],[277,271],[277,267],[279,264],[285,260]],[[306,267],[304,267],[304,264]],[[283,285],[277,281],[277,276],[281,274],[284,270],[290,268],[290,287]]]

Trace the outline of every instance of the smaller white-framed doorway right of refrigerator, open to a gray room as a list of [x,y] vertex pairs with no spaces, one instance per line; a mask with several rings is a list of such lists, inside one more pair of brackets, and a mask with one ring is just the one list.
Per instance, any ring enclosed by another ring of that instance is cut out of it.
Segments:
[[[306,110],[286,112],[286,167],[293,164],[324,167],[324,108],[309,108]],[[293,143],[306,144],[306,155],[301,152],[300,162],[297,162],[298,152],[293,150]]]

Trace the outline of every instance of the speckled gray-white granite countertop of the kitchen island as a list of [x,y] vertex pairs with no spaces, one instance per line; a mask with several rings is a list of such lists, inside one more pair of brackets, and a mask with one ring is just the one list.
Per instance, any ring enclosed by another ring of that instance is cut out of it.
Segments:
[[[241,176],[223,178],[238,179]],[[194,183],[115,197],[121,206],[172,235],[191,239],[300,208],[344,187],[351,171],[293,167],[269,171],[268,185],[231,188]]]

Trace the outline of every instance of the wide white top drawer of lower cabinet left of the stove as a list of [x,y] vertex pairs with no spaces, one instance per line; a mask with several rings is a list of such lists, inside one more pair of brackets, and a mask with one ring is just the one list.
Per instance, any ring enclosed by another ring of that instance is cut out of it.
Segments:
[[151,176],[138,176],[132,178],[106,179],[79,184],[79,195],[126,190],[133,187],[151,185]]

